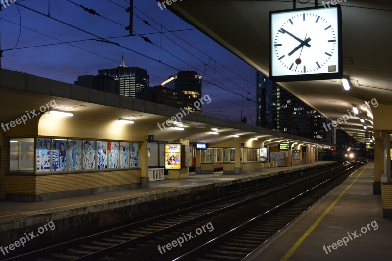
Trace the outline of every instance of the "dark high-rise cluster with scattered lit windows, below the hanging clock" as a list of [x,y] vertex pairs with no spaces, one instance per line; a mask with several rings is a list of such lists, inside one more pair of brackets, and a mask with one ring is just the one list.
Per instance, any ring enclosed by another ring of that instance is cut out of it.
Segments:
[[256,126],[326,141],[324,116],[259,71],[256,82]]

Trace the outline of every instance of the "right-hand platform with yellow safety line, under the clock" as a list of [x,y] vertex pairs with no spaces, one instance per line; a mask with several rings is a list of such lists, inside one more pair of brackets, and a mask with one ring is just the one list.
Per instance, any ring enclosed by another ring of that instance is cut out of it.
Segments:
[[362,166],[246,260],[391,260],[392,220],[373,176],[374,162]]

